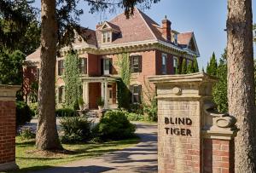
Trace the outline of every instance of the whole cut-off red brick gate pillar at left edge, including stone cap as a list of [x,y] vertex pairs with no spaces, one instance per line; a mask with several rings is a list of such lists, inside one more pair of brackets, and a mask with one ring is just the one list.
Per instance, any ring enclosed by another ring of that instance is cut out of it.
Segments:
[[0,84],[0,172],[18,169],[15,164],[15,95],[20,86]]

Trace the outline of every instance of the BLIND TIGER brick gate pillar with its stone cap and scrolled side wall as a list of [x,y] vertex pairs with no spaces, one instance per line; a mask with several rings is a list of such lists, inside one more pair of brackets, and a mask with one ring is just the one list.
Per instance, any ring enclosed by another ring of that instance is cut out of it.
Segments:
[[236,120],[212,103],[216,78],[195,73],[148,79],[157,88],[158,171],[232,172]]

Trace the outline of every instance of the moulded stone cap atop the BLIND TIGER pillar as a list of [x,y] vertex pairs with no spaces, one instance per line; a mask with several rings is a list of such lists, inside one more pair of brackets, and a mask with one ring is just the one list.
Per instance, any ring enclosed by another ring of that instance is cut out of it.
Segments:
[[157,87],[157,97],[160,98],[196,98],[212,96],[212,86],[218,78],[205,72],[181,75],[157,75],[148,78]]

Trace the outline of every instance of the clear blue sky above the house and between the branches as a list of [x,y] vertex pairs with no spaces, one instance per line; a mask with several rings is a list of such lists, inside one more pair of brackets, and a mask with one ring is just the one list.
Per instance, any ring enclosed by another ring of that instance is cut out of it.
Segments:
[[[256,23],[256,0],[252,1],[255,9],[253,23]],[[36,0],[34,5],[40,8],[40,0]],[[79,7],[84,10],[80,17],[80,25],[93,30],[99,21],[111,20],[123,12],[122,9],[116,9],[113,14],[90,14],[87,3],[81,3]],[[139,6],[138,8],[140,9]],[[217,58],[224,53],[227,42],[224,32],[227,19],[226,0],[160,0],[159,3],[153,3],[151,9],[144,9],[143,12],[160,25],[166,15],[167,19],[172,21],[172,29],[177,32],[195,32],[195,40],[201,54],[197,59],[200,69],[206,69],[212,52],[215,52]],[[255,45],[254,50],[256,51]]]

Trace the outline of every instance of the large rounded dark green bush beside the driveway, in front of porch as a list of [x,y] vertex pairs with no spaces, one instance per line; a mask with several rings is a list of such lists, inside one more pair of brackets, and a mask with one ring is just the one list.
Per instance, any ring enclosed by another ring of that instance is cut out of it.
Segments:
[[125,112],[108,111],[93,129],[95,136],[106,140],[122,140],[135,136],[135,125],[125,117]]

